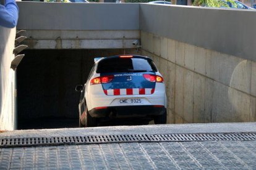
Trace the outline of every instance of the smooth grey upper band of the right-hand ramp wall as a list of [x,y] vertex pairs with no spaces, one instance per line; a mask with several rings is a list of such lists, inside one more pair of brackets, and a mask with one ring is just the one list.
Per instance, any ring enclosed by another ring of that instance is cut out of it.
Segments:
[[256,62],[256,11],[140,4],[140,30]]

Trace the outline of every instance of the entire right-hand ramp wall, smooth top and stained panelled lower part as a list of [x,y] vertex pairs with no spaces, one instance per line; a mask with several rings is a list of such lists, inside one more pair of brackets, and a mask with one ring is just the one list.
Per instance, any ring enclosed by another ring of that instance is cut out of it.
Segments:
[[168,123],[256,121],[255,18],[250,10],[140,5],[142,55],[163,73]]

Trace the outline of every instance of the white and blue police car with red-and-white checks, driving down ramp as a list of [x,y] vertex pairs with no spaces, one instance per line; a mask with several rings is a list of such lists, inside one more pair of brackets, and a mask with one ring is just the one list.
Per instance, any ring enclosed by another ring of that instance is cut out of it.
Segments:
[[140,55],[96,58],[80,91],[79,126],[108,118],[147,118],[166,123],[164,80],[153,61]]

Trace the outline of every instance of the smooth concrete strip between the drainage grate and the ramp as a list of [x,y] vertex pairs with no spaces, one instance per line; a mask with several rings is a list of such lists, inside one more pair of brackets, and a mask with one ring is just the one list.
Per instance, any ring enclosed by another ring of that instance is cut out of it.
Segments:
[[108,126],[64,129],[31,129],[6,131],[3,137],[58,137],[84,135],[117,135],[117,134],[185,134],[185,133],[224,133],[256,132],[256,123],[206,123],[206,124],[163,124],[145,126]]

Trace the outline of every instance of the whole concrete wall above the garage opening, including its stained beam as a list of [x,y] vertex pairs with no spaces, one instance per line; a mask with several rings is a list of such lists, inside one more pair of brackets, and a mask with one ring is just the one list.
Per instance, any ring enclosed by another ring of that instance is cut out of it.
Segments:
[[24,43],[30,49],[130,49],[140,38],[139,4],[18,5],[17,28],[27,30]]

